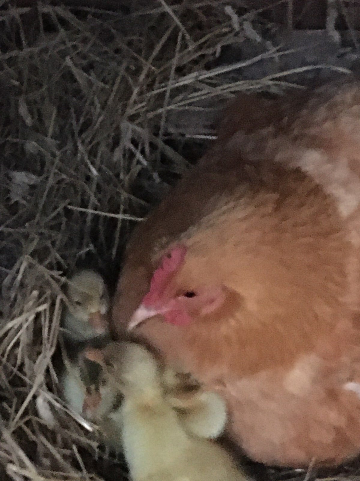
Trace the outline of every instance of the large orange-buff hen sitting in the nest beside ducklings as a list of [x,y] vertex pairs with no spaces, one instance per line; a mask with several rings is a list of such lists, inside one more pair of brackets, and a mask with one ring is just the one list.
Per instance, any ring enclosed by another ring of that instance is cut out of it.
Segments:
[[257,461],[360,453],[360,84],[240,97],[135,229],[113,306]]

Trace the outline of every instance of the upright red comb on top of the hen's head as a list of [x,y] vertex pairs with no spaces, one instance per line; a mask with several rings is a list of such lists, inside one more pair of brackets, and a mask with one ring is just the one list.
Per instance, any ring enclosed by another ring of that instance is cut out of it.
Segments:
[[161,296],[165,291],[169,278],[181,266],[186,254],[186,247],[177,246],[164,255],[160,266],[156,269],[150,281],[150,290],[145,295],[142,304],[154,306],[161,301]]

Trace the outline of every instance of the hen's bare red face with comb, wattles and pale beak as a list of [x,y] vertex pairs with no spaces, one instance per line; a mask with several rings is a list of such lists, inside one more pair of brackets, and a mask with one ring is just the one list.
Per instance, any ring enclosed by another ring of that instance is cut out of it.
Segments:
[[165,322],[183,326],[215,312],[223,303],[226,291],[221,284],[195,285],[191,278],[181,280],[186,247],[173,247],[160,260],[150,282],[150,289],[132,315],[128,328],[160,314]]

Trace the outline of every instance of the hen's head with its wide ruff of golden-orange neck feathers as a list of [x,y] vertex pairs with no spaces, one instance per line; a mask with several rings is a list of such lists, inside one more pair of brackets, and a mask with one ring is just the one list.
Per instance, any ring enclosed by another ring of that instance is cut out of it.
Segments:
[[332,199],[298,171],[265,173],[274,185],[240,184],[180,232],[150,218],[127,251],[114,328],[202,382],[214,365],[219,379],[290,366],[344,317],[350,245]]

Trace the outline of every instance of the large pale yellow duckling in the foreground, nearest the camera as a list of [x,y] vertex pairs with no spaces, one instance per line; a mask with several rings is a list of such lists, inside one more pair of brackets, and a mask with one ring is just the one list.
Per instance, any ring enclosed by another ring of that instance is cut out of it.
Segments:
[[207,398],[210,405],[216,399],[208,409],[214,417],[207,419],[208,432],[204,424],[202,437],[192,435],[168,401],[160,366],[148,350],[133,342],[112,342],[101,356],[97,360],[104,379],[124,396],[119,408],[121,441],[133,481],[247,479],[222,447],[205,439],[225,427],[225,403],[220,396],[214,393]]

